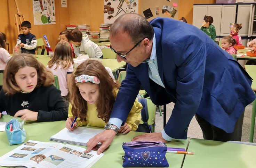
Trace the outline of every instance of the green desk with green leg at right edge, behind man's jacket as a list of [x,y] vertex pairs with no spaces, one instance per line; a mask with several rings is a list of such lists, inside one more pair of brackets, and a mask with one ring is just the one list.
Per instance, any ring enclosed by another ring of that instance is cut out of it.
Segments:
[[[245,65],[245,70],[250,75],[250,77],[254,79],[253,83],[251,84],[251,88],[256,93],[256,65]],[[256,115],[256,99],[253,101],[253,110],[251,112],[251,128],[250,128],[249,142],[253,142],[255,115]]]

